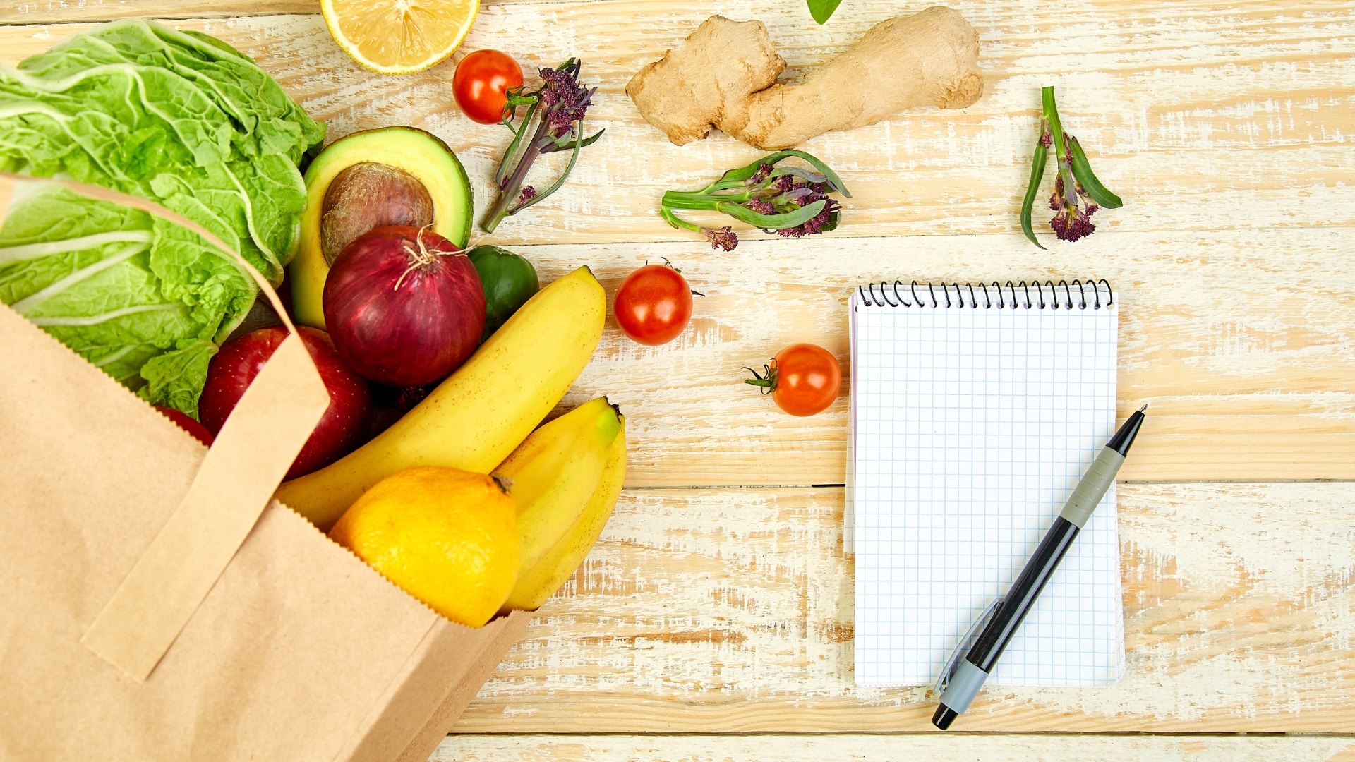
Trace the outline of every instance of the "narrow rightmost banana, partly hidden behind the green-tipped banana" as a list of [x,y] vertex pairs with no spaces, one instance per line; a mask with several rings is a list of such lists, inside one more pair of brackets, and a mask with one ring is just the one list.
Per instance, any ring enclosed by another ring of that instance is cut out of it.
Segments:
[[518,583],[504,610],[534,610],[539,609],[547,598],[560,590],[560,586],[575,574],[584,556],[592,549],[602,529],[607,526],[611,510],[621,496],[621,485],[626,480],[626,416],[621,416],[621,431],[611,441],[611,450],[607,453],[607,465],[603,468],[602,479],[593,489],[588,504],[584,506],[579,519],[569,527],[569,532],[556,542],[539,561],[528,567],[523,564],[518,574]]

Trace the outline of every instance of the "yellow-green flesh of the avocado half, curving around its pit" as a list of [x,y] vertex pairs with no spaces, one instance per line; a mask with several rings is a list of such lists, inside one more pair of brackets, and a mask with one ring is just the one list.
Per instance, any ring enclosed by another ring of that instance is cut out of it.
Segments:
[[325,191],[339,172],[374,161],[404,169],[419,179],[432,198],[432,229],[461,248],[470,240],[473,216],[470,179],[457,155],[436,136],[417,127],[363,130],[329,144],[306,169],[306,210],[301,213],[301,244],[287,266],[291,306],[297,323],[324,329],[321,297],[329,266],[320,247],[320,212]]

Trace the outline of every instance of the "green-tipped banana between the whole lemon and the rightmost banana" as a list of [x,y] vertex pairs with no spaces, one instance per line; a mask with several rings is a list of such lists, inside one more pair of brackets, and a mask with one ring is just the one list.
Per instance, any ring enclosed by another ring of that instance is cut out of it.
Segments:
[[520,568],[539,561],[579,519],[619,433],[621,412],[607,397],[598,397],[533,431],[495,469],[495,476],[512,484]]

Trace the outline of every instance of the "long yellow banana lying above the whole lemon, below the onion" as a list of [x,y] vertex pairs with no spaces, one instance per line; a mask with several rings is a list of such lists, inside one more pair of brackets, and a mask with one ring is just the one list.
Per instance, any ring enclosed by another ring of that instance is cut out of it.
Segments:
[[587,267],[527,300],[465,365],[375,439],[278,488],[328,530],[369,487],[415,465],[488,473],[565,396],[588,365],[607,297]]

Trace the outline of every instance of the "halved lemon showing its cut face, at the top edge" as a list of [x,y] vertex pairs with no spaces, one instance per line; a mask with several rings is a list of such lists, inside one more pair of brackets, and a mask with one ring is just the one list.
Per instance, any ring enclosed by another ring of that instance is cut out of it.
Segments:
[[451,56],[480,0],[320,0],[320,11],[335,42],[360,66],[409,75]]

